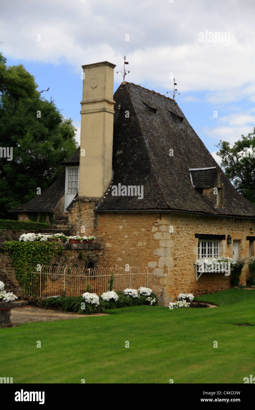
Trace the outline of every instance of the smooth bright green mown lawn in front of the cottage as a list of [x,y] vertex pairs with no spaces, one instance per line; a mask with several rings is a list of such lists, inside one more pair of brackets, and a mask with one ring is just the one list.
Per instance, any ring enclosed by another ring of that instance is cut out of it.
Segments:
[[0,376],[14,383],[243,383],[255,376],[255,291],[196,300],[219,307],[143,305],[0,329]]

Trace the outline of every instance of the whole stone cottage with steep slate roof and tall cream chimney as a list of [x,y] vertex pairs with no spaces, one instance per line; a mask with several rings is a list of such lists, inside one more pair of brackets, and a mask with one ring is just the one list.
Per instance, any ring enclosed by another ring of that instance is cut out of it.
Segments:
[[[15,210],[19,219],[66,216],[73,233],[85,227],[104,244],[99,266],[155,267],[165,304],[180,292],[229,288],[224,273],[197,279],[194,263],[252,255],[255,206],[235,190],[175,100],[129,82],[113,96],[114,64],[82,67],[80,148],[51,187]],[[246,278],[244,271],[240,283]]]

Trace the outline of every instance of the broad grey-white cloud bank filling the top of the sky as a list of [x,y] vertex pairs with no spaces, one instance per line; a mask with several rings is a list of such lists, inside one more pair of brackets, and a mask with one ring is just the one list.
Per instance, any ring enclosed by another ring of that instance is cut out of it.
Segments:
[[[206,100],[213,104],[255,99],[251,1],[227,0],[217,6],[202,0],[2,0],[1,7],[1,51],[6,57],[65,63],[78,73],[82,64],[104,60],[122,69],[125,54],[131,82],[170,91],[173,72],[179,91],[208,91]],[[230,32],[230,45],[199,43],[205,30]],[[41,41],[36,41],[37,34]]]

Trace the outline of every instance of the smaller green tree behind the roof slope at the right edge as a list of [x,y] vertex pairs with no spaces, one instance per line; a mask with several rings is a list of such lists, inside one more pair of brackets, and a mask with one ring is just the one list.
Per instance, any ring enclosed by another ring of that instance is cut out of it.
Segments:
[[217,148],[226,176],[244,198],[255,203],[255,128],[234,145],[220,140]]

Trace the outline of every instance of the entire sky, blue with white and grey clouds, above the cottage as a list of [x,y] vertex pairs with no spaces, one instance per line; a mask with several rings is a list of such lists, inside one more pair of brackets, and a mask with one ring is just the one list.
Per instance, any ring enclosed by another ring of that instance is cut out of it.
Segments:
[[50,87],[43,96],[72,118],[77,140],[81,65],[116,64],[114,91],[124,55],[126,80],[142,87],[166,94],[173,73],[176,102],[216,158],[220,139],[234,143],[255,126],[254,11],[251,0],[2,0],[0,50],[39,91]]

